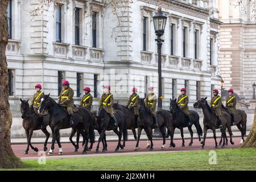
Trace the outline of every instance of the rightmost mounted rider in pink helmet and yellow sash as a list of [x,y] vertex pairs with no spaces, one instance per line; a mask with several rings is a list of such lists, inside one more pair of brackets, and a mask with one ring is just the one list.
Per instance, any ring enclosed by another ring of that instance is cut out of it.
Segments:
[[229,89],[229,96],[226,97],[226,107],[228,107],[228,111],[232,118],[232,125],[235,125],[234,117],[236,115],[236,104],[237,104],[237,98],[234,96],[234,90]]

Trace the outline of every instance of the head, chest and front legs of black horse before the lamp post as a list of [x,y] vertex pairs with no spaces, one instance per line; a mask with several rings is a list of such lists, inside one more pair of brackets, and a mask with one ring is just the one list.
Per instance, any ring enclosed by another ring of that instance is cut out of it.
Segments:
[[[152,113],[147,107],[145,106],[144,99],[139,98],[138,100],[138,107],[139,107],[139,117],[137,120],[138,125],[138,137],[137,137],[137,144],[134,150],[139,149],[139,139],[141,138],[141,132],[144,130],[147,134],[148,138],[148,146],[150,144],[150,150],[153,150],[153,142],[152,142],[152,129],[155,129],[153,116]],[[148,148],[148,147],[146,147]]]

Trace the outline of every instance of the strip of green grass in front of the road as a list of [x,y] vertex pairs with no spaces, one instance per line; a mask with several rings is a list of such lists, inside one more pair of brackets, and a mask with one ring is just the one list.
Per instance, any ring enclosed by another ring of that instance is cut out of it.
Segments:
[[23,160],[18,170],[256,170],[256,148],[214,150],[217,164],[209,164],[209,150],[146,155]]

